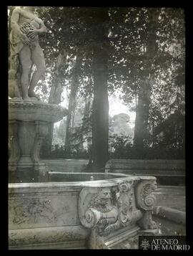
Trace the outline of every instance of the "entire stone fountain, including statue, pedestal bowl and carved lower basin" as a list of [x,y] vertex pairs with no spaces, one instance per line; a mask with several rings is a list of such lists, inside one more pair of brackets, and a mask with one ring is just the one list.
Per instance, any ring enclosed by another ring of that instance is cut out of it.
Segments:
[[[124,241],[127,249],[137,249],[139,234],[157,232],[152,220],[156,178],[46,169],[39,158],[41,142],[48,125],[67,110],[41,102],[34,93],[45,70],[36,33],[46,32],[34,7],[14,9],[11,29],[9,249],[111,249]],[[34,54],[36,71],[31,72]]]

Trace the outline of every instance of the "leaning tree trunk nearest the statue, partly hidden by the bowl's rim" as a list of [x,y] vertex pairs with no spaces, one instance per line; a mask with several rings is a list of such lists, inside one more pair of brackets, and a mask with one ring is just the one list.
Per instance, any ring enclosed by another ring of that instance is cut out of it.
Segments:
[[[52,82],[52,87],[51,87],[51,91],[49,94],[49,104],[59,104],[61,103],[61,93],[63,91],[63,87],[62,87],[62,80],[64,78],[65,75],[65,71],[66,71],[66,51],[65,50],[61,50],[59,52],[59,56],[57,59],[57,63],[56,63],[56,70],[54,72],[54,79]],[[51,144],[52,144],[52,139],[53,139],[53,131],[54,131],[54,123],[50,123],[48,125],[49,131],[48,134],[46,136],[46,138],[44,138],[44,141],[42,143],[42,151],[46,151],[46,155],[50,156],[51,155]]]

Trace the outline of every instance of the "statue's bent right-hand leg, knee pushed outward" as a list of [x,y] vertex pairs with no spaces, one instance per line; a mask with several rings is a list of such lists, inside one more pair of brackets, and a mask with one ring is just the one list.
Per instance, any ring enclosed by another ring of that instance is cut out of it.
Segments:
[[34,88],[36,87],[37,83],[39,82],[39,79],[41,78],[41,75],[44,74],[46,71],[46,65],[44,60],[44,53],[39,46],[39,44],[36,44],[36,47],[31,49],[31,60],[36,65],[36,71],[31,77],[31,82],[29,85],[29,97],[36,97],[36,94],[34,93]]

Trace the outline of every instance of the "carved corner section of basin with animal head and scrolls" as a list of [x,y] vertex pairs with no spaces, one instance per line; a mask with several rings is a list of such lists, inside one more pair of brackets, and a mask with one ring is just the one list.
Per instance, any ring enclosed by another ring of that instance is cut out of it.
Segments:
[[[91,229],[89,248],[107,248],[104,243],[107,234],[136,224],[140,219],[142,223],[139,222],[139,225],[142,229],[157,229],[149,211],[155,202],[152,191],[156,189],[156,182],[154,178],[141,177],[141,179],[144,180],[138,181],[127,177],[111,188],[89,186],[81,190],[79,217],[81,224]],[[137,209],[136,200],[137,207],[142,211]]]

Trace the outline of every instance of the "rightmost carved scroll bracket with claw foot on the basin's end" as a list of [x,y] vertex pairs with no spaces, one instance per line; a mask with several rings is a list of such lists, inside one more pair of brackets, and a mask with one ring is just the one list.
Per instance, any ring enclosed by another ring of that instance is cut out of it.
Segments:
[[157,233],[158,227],[152,219],[152,209],[156,202],[156,197],[152,192],[157,189],[156,179],[145,179],[139,181],[135,189],[137,207],[142,210],[142,219],[139,220],[139,227],[142,228],[141,233]]

